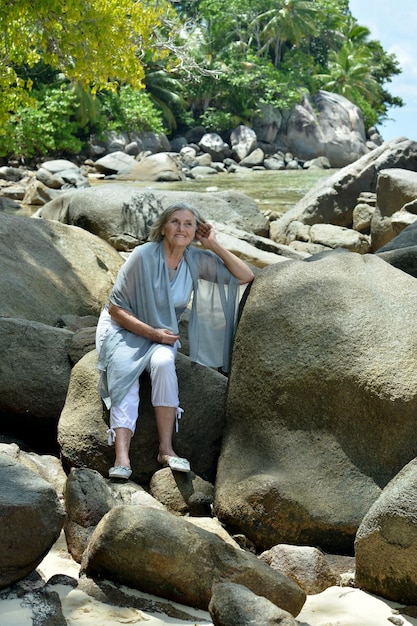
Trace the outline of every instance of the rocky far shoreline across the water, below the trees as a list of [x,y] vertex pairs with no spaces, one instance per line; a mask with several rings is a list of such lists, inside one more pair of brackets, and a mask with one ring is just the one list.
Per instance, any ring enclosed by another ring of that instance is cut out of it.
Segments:
[[365,132],[357,107],[322,91],[314,102],[305,99],[295,107],[285,123],[267,106],[252,128],[239,125],[223,135],[203,127],[171,140],[152,132],[111,132],[91,137],[88,154],[73,160],[43,159],[32,168],[11,160],[0,167],[0,210],[20,203],[43,206],[92,180],[180,181],[248,170],[338,169],[382,144],[375,128]]

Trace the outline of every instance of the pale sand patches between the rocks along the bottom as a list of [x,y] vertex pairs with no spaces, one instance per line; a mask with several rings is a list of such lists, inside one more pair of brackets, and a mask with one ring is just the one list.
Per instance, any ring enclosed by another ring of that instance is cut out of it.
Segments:
[[[79,564],[68,554],[63,533],[39,565],[37,572],[45,581],[59,574],[78,579]],[[114,606],[69,584],[53,585],[53,590],[60,596],[68,626],[212,625],[206,611],[168,602],[132,589],[123,589],[132,598],[132,606]],[[138,605],[147,608],[137,608]],[[414,607],[415,618],[401,613],[403,608],[399,603],[389,602],[352,587],[329,587],[320,594],[307,597],[297,620],[300,626],[417,626],[417,608]],[[183,617],[170,617],[173,612]],[[21,599],[0,601],[0,626],[32,626],[32,623],[32,612],[24,606]]]

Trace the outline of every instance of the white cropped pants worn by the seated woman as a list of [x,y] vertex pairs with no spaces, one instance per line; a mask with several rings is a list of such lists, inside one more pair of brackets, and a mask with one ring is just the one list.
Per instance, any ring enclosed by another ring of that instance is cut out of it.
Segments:
[[[175,370],[177,344],[159,346],[152,354],[147,371],[151,377],[152,406],[170,406],[177,410],[177,420],[181,417],[179,408],[178,378]],[[135,432],[139,410],[139,380],[133,383],[121,402],[110,409],[109,444],[114,442],[115,428],[129,428]]]

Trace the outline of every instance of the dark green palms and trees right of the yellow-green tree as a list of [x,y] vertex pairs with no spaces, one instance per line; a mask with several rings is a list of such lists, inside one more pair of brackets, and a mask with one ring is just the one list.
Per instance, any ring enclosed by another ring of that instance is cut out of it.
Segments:
[[348,0],[197,4],[193,21],[199,45],[193,52],[207,70],[216,72],[197,75],[187,84],[197,117],[213,120],[216,110],[226,111],[250,123],[260,103],[288,109],[305,91],[318,89],[363,106],[369,120],[376,113],[381,121],[387,106],[400,105],[383,89],[399,71],[396,60],[378,42],[369,41],[369,30],[351,15]]

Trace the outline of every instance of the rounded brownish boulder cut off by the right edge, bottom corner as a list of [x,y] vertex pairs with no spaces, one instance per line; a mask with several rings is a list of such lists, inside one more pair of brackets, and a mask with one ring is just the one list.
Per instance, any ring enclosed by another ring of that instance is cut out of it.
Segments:
[[385,487],[355,540],[355,584],[404,604],[417,596],[417,459]]

